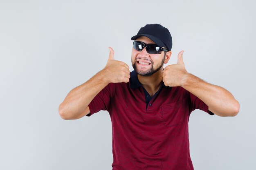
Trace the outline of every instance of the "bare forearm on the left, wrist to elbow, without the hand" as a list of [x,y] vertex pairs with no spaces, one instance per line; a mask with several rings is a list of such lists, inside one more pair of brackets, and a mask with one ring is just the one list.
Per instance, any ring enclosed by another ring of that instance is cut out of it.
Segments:
[[59,114],[65,119],[77,118],[85,111],[92,99],[108,85],[104,71],[98,72],[87,82],[72,89],[59,106]]

